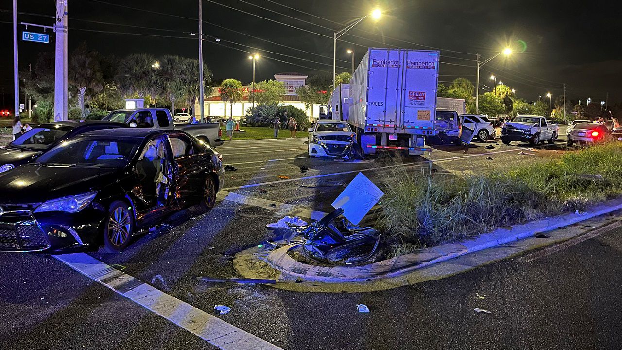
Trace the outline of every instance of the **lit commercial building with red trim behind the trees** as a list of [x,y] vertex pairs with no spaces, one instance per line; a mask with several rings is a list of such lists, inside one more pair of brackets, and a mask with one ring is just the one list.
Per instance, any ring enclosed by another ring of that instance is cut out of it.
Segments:
[[[300,73],[279,73],[275,74],[274,78],[277,82],[283,82],[285,85],[285,95],[282,97],[284,105],[294,106],[304,110],[309,116],[310,121],[320,118],[320,106],[313,105],[313,110],[305,107],[305,104],[300,101],[300,97],[296,95],[296,88],[304,86],[308,78],[307,75]],[[231,104],[221,100],[220,98],[221,87],[214,87],[213,93],[210,97],[205,99],[205,116],[217,116],[222,118],[228,118],[231,115]],[[239,119],[246,115],[246,110],[253,106],[252,91],[253,87],[244,85],[244,98],[241,102],[233,103],[233,118]],[[195,118],[200,119],[200,110],[198,103],[194,108]]]

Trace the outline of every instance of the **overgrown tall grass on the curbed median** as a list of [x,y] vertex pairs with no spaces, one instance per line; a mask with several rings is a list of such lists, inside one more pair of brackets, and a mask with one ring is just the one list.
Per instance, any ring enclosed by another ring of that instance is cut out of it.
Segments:
[[400,255],[622,195],[622,143],[504,173],[457,178],[402,168],[383,189],[379,226]]

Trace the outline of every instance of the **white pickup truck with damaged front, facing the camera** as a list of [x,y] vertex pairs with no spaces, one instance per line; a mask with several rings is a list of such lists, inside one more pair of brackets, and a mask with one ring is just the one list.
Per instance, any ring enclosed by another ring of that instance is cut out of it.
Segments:
[[501,142],[529,142],[532,146],[547,141],[554,144],[559,135],[559,125],[539,115],[519,115],[501,125]]

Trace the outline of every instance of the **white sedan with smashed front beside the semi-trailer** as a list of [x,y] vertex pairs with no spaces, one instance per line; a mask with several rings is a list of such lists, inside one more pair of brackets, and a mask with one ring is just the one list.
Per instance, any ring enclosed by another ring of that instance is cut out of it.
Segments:
[[341,120],[322,119],[309,128],[309,156],[341,157],[348,154],[356,134]]

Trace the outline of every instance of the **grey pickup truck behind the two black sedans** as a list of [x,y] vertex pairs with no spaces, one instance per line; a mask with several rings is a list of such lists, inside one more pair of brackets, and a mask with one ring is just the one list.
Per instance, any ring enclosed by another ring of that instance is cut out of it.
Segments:
[[136,108],[111,111],[103,120],[119,121],[133,128],[156,128],[183,130],[212,147],[221,146],[225,140],[219,123],[175,125],[170,111],[165,108]]

